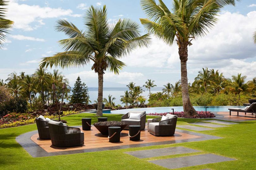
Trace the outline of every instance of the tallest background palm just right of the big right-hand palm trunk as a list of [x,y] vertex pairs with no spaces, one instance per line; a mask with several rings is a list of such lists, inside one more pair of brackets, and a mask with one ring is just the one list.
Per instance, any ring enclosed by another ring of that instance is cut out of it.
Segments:
[[207,86],[211,86],[214,84],[213,81],[213,76],[211,75],[211,71],[208,70],[206,67],[205,69],[203,68],[203,71],[198,72],[198,76],[195,78],[195,84],[203,86],[204,87],[204,92],[207,92]]

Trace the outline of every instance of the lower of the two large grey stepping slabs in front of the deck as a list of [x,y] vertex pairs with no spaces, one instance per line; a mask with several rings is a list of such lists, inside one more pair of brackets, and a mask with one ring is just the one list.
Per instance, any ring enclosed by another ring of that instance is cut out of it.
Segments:
[[204,165],[209,163],[217,163],[224,161],[233,161],[235,159],[218,156],[214,154],[203,154],[203,155],[194,155],[194,156],[185,156],[179,158],[169,158],[169,159],[161,159],[155,161],[149,161],[156,165],[160,165],[162,167],[166,167],[169,169],[181,168],[181,167],[191,167],[196,165]]

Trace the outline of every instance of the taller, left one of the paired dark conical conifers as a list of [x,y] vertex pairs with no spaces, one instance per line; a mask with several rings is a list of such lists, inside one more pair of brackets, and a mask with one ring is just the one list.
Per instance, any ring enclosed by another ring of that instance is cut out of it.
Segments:
[[83,100],[83,86],[80,77],[78,76],[72,89],[71,103],[82,103]]

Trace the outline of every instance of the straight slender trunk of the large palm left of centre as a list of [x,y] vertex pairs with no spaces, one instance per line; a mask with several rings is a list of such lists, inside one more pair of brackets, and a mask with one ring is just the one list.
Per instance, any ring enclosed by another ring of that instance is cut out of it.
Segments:
[[103,71],[98,71],[98,109],[96,116],[102,116]]

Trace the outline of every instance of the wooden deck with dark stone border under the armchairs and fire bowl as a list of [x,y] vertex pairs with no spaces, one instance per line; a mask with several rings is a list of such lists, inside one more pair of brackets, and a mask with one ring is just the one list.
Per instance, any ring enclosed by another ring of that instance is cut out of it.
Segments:
[[[153,142],[164,142],[164,141],[173,141],[181,139],[194,139],[194,138],[203,138],[201,136],[192,135],[188,133],[175,132],[174,136],[154,136],[150,134],[147,130],[141,131],[141,140],[140,141],[131,141],[129,140],[128,130],[123,130],[121,132],[121,139],[118,143],[110,143],[107,136],[101,135],[101,133],[95,128],[92,127],[91,131],[84,132],[84,145],[75,146],[75,147],[56,147],[52,145],[50,139],[39,139],[38,133],[31,136],[36,144],[43,148],[46,152],[59,152],[59,151],[69,151],[69,150],[82,150],[82,149],[93,149],[93,148],[102,148],[102,147],[111,147],[111,146],[121,146],[121,145],[131,145],[131,144],[144,144],[144,143],[153,143]],[[82,131],[82,127],[81,127]]]

